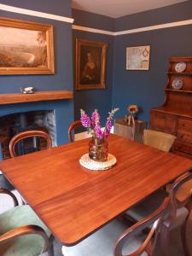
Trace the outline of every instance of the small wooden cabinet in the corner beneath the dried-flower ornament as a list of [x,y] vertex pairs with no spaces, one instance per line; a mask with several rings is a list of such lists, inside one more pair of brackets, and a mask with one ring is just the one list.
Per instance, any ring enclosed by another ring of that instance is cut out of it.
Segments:
[[143,143],[143,130],[146,128],[146,125],[147,123],[142,120],[135,120],[135,125],[128,125],[124,118],[115,119],[114,134]]

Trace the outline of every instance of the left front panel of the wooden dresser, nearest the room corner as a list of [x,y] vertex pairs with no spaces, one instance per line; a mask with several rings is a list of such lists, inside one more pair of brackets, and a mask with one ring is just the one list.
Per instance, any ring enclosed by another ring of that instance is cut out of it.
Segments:
[[151,111],[150,129],[175,134],[176,116],[167,113]]

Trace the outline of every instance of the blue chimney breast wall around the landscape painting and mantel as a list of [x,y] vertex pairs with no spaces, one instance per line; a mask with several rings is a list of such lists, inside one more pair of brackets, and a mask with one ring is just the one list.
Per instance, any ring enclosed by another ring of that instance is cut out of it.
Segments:
[[[1,1],[1,3],[42,11],[52,15],[71,17],[71,0]],[[54,26],[55,75],[0,76],[0,94],[19,92],[19,87],[32,85],[36,90],[73,90],[73,40],[72,25],[57,20],[48,20],[0,10],[0,16],[31,20]],[[32,110],[55,109],[57,120],[57,144],[67,142],[68,125],[73,121],[73,101],[22,103],[0,106],[0,116]]]

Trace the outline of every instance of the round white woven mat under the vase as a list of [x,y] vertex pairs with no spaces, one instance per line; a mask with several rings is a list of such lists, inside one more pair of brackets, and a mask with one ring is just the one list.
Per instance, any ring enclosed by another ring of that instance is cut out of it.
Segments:
[[93,171],[101,171],[107,170],[116,164],[117,160],[113,156],[113,154],[108,154],[108,160],[104,162],[97,162],[95,160],[91,160],[89,154],[84,154],[79,160],[81,166]]

